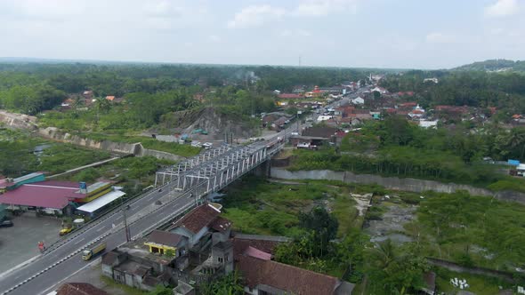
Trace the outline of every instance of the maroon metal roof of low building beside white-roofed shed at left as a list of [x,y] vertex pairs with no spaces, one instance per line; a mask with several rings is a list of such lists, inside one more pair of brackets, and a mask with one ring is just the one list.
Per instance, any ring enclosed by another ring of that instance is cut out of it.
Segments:
[[77,190],[76,182],[35,182],[5,192],[0,195],[0,203],[63,209],[68,205],[69,199],[85,197],[85,194],[77,194]]

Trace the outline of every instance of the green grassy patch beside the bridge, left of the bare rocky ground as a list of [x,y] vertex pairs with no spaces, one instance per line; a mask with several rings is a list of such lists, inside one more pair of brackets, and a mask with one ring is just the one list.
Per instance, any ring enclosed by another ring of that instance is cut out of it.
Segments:
[[348,187],[319,181],[282,184],[246,177],[228,187],[222,201],[224,217],[246,234],[296,236],[301,234],[298,213],[319,205],[334,213],[339,221],[338,235],[343,236],[361,222],[349,192]]

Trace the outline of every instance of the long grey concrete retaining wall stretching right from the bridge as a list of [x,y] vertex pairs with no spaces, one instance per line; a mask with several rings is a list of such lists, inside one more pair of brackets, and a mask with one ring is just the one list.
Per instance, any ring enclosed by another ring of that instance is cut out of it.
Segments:
[[282,168],[271,168],[271,177],[277,179],[328,179],[339,180],[346,183],[377,184],[382,187],[411,192],[436,191],[440,193],[453,193],[465,190],[471,195],[493,196],[502,201],[525,204],[525,194],[514,191],[492,192],[489,189],[472,187],[456,183],[443,183],[424,179],[400,179],[397,177],[383,177],[373,174],[354,174],[350,171],[287,171]]

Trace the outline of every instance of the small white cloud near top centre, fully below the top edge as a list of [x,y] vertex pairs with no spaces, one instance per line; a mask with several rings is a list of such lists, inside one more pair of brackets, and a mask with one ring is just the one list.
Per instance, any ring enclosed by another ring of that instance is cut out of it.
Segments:
[[228,22],[228,28],[247,28],[262,25],[268,20],[276,20],[285,15],[285,10],[271,5],[251,5],[235,14]]

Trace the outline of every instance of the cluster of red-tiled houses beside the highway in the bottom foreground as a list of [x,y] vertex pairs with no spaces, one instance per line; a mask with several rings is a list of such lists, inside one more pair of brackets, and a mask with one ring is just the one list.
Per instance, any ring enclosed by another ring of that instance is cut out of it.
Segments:
[[232,233],[221,209],[201,204],[166,230],[105,253],[102,274],[146,291],[170,284],[174,294],[187,295],[237,269],[246,294],[351,294],[351,283],[273,260],[288,238]]

